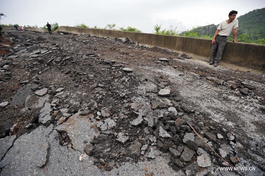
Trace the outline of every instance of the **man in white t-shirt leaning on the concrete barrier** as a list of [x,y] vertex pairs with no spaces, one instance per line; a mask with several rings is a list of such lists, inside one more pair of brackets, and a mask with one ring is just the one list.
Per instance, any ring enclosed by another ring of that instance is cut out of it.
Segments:
[[[217,67],[219,61],[221,60],[223,49],[226,46],[226,38],[230,35],[233,30],[233,42],[236,42],[236,28],[238,28],[238,20],[236,19],[237,11],[232,10],[228,14],[228,20],[222,21],[212,40],[212,51],[210,56],[209,64],[214,64],[214,67]],[[216,52],[217,51],[217,52]],[[216,54],[216,57],[214,57]]]

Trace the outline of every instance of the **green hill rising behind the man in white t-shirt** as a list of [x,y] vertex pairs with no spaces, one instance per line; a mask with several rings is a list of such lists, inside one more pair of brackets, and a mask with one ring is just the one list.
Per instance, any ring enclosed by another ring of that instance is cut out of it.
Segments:
[[[236,19],[238,19],[237,36],[248,33],[253,36],[254,40],[265,38],[265,8],[250,11]],[[212,37],[218,25],[199,26],[192,31],[197,31],[199,36],[208,35]],[[230,35],[232,36],[233,34],[231,33]]]

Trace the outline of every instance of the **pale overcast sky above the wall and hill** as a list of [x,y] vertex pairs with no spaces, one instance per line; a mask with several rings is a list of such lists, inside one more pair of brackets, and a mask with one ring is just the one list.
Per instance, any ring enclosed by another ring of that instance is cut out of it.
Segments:
[[[244,15],[254,9],[265,7],[264,0],[1,0],[1,24],[35,25],[58,22],[59,26],[104,27],[117,24],[119,27],[134,26],[151,33],[156,24],[168,29],[170,25],[178,31],[193,26],[219,24],[228,19],[231,10]],[[240,21],[239,21],[240,25]]]

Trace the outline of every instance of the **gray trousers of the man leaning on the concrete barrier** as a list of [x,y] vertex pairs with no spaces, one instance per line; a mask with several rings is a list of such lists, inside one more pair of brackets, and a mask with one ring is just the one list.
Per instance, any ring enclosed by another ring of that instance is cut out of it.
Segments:
[[[223,49],[226,46],[226,37],[217,35],[215,38],[215,43],[213,44],[210,60],[214,63],[218,63],[221,60]],[[217,50],[217,52],[216,52]]]

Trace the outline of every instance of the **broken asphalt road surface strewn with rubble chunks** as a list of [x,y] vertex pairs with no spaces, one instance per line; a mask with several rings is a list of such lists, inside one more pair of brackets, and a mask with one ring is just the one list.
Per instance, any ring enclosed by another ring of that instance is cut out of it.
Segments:
[[264,175],[264,75],[127,39],[5,36],[0,175]]

